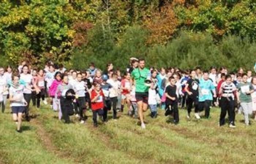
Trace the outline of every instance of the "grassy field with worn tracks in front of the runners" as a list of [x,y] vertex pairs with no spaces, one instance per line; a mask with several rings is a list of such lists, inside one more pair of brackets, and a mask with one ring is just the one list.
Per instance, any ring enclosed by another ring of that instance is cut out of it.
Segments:
[[[179,110],[180,124],[169,117],[146,116],[146,129],[125,114],[119,120],[93,127],[92,113],[86,125],[66,125],[48,106],[31,109],[33,119],[23,122],[21,134],[15,131],[10,109],[0,113],[0,163],[14,164],[176,164],[176,163],[255,163],[256,122],[245,126],[242,115],[237,127],[218,127],[219,109],[211,109],[211,118],[186,119]],[[109,114],[112,116],[112,114]]]

